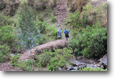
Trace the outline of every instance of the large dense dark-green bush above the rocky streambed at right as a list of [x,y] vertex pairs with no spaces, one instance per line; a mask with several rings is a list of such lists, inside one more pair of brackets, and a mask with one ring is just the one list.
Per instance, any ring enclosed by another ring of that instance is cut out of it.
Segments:
[[[97,25],[94,25],[97,26]],[[77,32],[76,38],[69,44],[76,55],[98,57],[107,53],[107,28],[90,27]]]

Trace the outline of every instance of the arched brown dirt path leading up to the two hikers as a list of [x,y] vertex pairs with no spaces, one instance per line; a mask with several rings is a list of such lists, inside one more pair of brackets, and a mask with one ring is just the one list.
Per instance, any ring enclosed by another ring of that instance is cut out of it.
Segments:
[[40,54],[42,50],[52,49],[52,47],[58,49],[60,47],[65,47],[65,46],[66,46],[66,40],[62,39],[62,40],[51,41],[31,49],[32,54],[30,54],[30,51],[24,52],[24,54],[20,55],[20,59],[22,61],[32,59],[37,53]]

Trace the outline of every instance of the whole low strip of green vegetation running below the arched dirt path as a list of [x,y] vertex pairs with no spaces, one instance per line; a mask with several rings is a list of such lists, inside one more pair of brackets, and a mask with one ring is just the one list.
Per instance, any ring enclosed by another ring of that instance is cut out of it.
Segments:
[[[37,55],[36,60],[18,61],[19,55],[11,57],[11,64],[22,70],[33,70],[35,67],[47,67],[50,71],[57,70],[59,67],[68,65],[68,61],[74,58],[70,53],[72,50],[54,49],[55,52],[45,51],[43,54]],[[33,63],[32,63],[33,62]]]

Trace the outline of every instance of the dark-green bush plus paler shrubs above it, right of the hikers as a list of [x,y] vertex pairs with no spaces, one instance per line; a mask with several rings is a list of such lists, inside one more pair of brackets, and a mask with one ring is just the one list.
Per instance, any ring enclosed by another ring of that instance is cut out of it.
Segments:
[[71,13],[67,20],[71,29],[77,29],[72,31],[73,39],[69,46],[74,49],[75,55],[87,58],[99,57],[107,53],[107,28],[102,27],[99,17],[101,11],[95,13],[91,10],[92,6],[87,5],[82,13]]

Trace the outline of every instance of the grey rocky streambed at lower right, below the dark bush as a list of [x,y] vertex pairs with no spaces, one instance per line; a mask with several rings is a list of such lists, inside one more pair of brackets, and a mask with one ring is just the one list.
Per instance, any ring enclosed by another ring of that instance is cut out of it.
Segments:
[[76,71],[84,67],[106,69],[107,55],[104,55],[100,60],[86,59],[79,56],[76,59],[71,59],[69,62],[71,65],[66,66],[66,68],[59,68],[58,71]]

